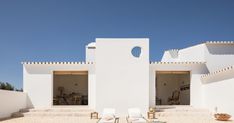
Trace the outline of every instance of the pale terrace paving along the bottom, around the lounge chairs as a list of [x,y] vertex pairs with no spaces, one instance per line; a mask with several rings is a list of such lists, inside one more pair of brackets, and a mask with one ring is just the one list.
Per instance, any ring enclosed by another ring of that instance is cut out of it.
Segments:
[[[203,116],[186,116],[186,114],[177,114],[176,116],[161,116],[157,121],[166,123],[234,123],[234,121],[216,121],[212,117]],[[21,117],[13,118],[1,123],[96,123],[97,120],[90,119],[90,117]],[[122,117],[119,123],[127,123],[126,118]]]

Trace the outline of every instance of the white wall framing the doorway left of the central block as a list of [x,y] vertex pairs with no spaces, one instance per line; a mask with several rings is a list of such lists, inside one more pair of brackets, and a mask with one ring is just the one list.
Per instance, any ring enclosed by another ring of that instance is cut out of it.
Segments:
[[53,99],[53,71],[88,71],[89,107],[95,108],[94,64],[24,64],[23,88],[28,93],[29,107],[51,107]]

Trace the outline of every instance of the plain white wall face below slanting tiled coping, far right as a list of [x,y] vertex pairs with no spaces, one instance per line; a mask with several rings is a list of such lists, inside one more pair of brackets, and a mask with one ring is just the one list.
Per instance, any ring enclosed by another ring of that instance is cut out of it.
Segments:
[[218,112],[234,115],[234,78],[203,85],[204,107]]

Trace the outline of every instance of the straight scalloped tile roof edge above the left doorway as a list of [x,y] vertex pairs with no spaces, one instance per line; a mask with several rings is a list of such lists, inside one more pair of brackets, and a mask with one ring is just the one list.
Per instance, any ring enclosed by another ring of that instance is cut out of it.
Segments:
[[94,64],[93,62],[21,62],[21,64]]

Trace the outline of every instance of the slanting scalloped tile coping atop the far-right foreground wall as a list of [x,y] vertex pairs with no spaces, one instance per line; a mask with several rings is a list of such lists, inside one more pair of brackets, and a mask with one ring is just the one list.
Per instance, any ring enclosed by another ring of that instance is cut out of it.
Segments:
[[211,83],[234,77],[234,65],[201,76],[203,83]]

